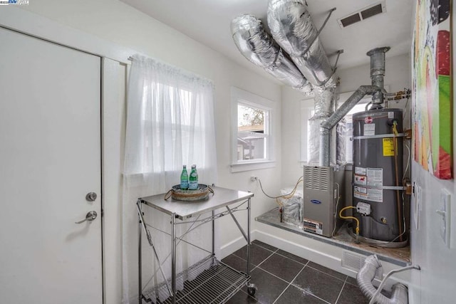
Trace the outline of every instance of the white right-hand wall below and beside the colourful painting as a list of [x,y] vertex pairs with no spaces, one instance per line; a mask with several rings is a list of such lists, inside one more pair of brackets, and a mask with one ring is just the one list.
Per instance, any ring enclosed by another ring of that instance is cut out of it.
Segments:
[[[452,18],[456,8],[452,6]],[[456,35],[452,32],[452,58],[456,58]],[[453,94],[456,92],[454,65],[452,71]],[[453,95],[454,96],[454,95]],[[454,103],[454,97],[453,97]],[[453,105],[453,121],[456,109]],[[453,122],[454,123],[454,122]],[[453,178],[456,164],[456,129],[453,132]],[[418,210],[418,229],[415,226],[414,212],[416,196],[412,197],[411,251],[412,262],[420,265],[421,271],[413,271],[409,285],[410,303],[455,303],[456,298],[456,184],[454,179],[441,180],[426,172],[417,162],[412,163],[412,177],[417,186],[423,189],[421,208]],[[451,194],[451,248],[447,248],[440,238],[440,219],[435,213],[440,209],[440,193],[446,190]],[[416,192],[416,189],[415,189]]]

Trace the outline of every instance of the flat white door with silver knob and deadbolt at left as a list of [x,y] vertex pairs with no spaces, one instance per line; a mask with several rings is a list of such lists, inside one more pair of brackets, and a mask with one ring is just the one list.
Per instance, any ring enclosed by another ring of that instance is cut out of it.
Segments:
[[0,303],[100,304],[100,57],[0,41]]

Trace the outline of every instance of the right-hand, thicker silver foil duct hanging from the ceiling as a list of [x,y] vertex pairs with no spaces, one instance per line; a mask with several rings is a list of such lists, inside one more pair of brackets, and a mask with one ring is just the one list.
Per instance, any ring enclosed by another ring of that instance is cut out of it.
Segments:
[[274,40],[313,85],[333,85],[333,69],[304,0],[272,0],[268,25]]

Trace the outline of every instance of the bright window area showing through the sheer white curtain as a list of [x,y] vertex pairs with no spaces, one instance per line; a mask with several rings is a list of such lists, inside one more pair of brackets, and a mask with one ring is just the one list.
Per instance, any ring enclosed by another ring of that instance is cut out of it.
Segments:
[[[193,162],[202,164],[199,157],[192,157],[188,151],[194,154],[202,154],[200,135],[204,133],[202,124],[199,123],[199,112],[196,108],[197,100],[194,93],[171,85],[157,83],[153,89],[159,103],[142,103],[142,124],[150,128],[150,136],[142,137],[144,140],[141,150],[142,172],[170,172],[182,167],[176,164],[176,159],[163,161],[162,153],[156,153],[157,149],[172,152],[172,155],[182,157],[182,164],[190,165]],[[148,91],[144,90],[142,100],[147,100]],[[164,101],[165,100],[165,101]],[[149,135],[147,132],[147,135]],[[198,145],[193,145],[191,140],[197,140]],[[202,168],[198,168],[202,169]]]

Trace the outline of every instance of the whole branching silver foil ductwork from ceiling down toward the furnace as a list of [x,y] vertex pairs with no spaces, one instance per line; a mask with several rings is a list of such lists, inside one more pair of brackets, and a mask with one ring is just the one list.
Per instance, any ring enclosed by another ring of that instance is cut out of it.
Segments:
[[[320,166],[336,164],[336,158],[337,162],[343,162],[345,157],[336,157],[336,130],[331,129],[364,95],[375,93],[375,90],[366,90],[366,86],[359,88],[349,98],[349,103],[344,103],[333,113],[336,90],[333,68],[321,46],[305,0],[269,1],[267,21],[272,38],[264,31],[261,20],[252,15],[233,19],[231,30],[237,48],[245,58],[282,83],[305,95],[314,91],[315,114],[309,120],[308,161]],[[347,105],[350,105],[348,110]],[[343,134],[343,131],[338,134]],[[344,153],[342,142],[342,139],[338,140],[339,152]]]

